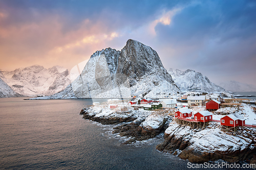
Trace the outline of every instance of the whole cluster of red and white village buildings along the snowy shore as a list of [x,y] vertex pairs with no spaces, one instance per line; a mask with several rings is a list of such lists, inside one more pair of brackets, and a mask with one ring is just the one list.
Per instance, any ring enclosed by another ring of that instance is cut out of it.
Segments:
[[[188,106],[205,106],[206,110],[196,112],[193,115],[193,111],[190,109],[185,107],[181,108],[175,112],[175,118],[180,120],[193,123],[220,122],[226,129],[229,129],[228,127],[234,128],[245,125],[245,119],[238,114],[228,114],[223,116],[220,120],[214,120],[210,111],[218,110],[221,103],[215,99],[205,102],[205,95],[187,95],[183,96],[181,100],[187,102]],[[110,104],[110,109],[117,108],[118,102],[120,102],[118,99],[109,99],[108,104]],[[93,103],[93,105],[98,104],[98,102]],[[138,108],[143,108],[144,110],[177,108],[176,99],[135,99],[134,101],[128,102],[128,104],[133,105],[135,110],[138,110]]]

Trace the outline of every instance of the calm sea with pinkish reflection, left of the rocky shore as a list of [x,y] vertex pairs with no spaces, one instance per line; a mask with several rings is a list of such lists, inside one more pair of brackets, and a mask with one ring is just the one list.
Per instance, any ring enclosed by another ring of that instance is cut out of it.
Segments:
[[187,168],[187,161],[155,149],[163,138],[122,145],[111,126],[82,119],[81,108],[92,102],[0,99],[0,169]]

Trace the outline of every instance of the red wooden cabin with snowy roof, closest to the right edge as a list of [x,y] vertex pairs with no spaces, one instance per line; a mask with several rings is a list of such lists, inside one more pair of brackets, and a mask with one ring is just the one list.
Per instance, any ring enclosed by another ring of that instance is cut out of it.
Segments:
[[238,114],[228,114],[221,118],[221,125],[231,127],[244,126],[245,119]]

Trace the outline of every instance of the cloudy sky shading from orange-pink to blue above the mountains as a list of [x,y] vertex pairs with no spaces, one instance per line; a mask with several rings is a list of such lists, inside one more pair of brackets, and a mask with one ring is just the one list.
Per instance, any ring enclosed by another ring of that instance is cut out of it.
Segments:
[[256,1],[0,0],[0,68],[69,70],[128,39],[151,46],[166,69],[212,82],[256,85]]

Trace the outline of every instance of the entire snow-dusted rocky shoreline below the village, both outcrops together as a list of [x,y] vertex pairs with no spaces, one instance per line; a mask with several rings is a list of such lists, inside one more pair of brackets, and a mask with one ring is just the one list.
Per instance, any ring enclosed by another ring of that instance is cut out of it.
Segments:
[[84,119],[103,125],[117,125],[113,128],[113,134],[132,137],[122,144],[150,139],[164,132],[165,141],[158,144],[156,149],[181,159],[190,162],[221,159],[256,163],[256,129],[240,127],[233,135],[221,131],[220,125],[214,122],[205,129],[193,129],[177,124],[170,112],[133,110],[130,106],[111,110],[106,105],[84,108],[80,114]]

